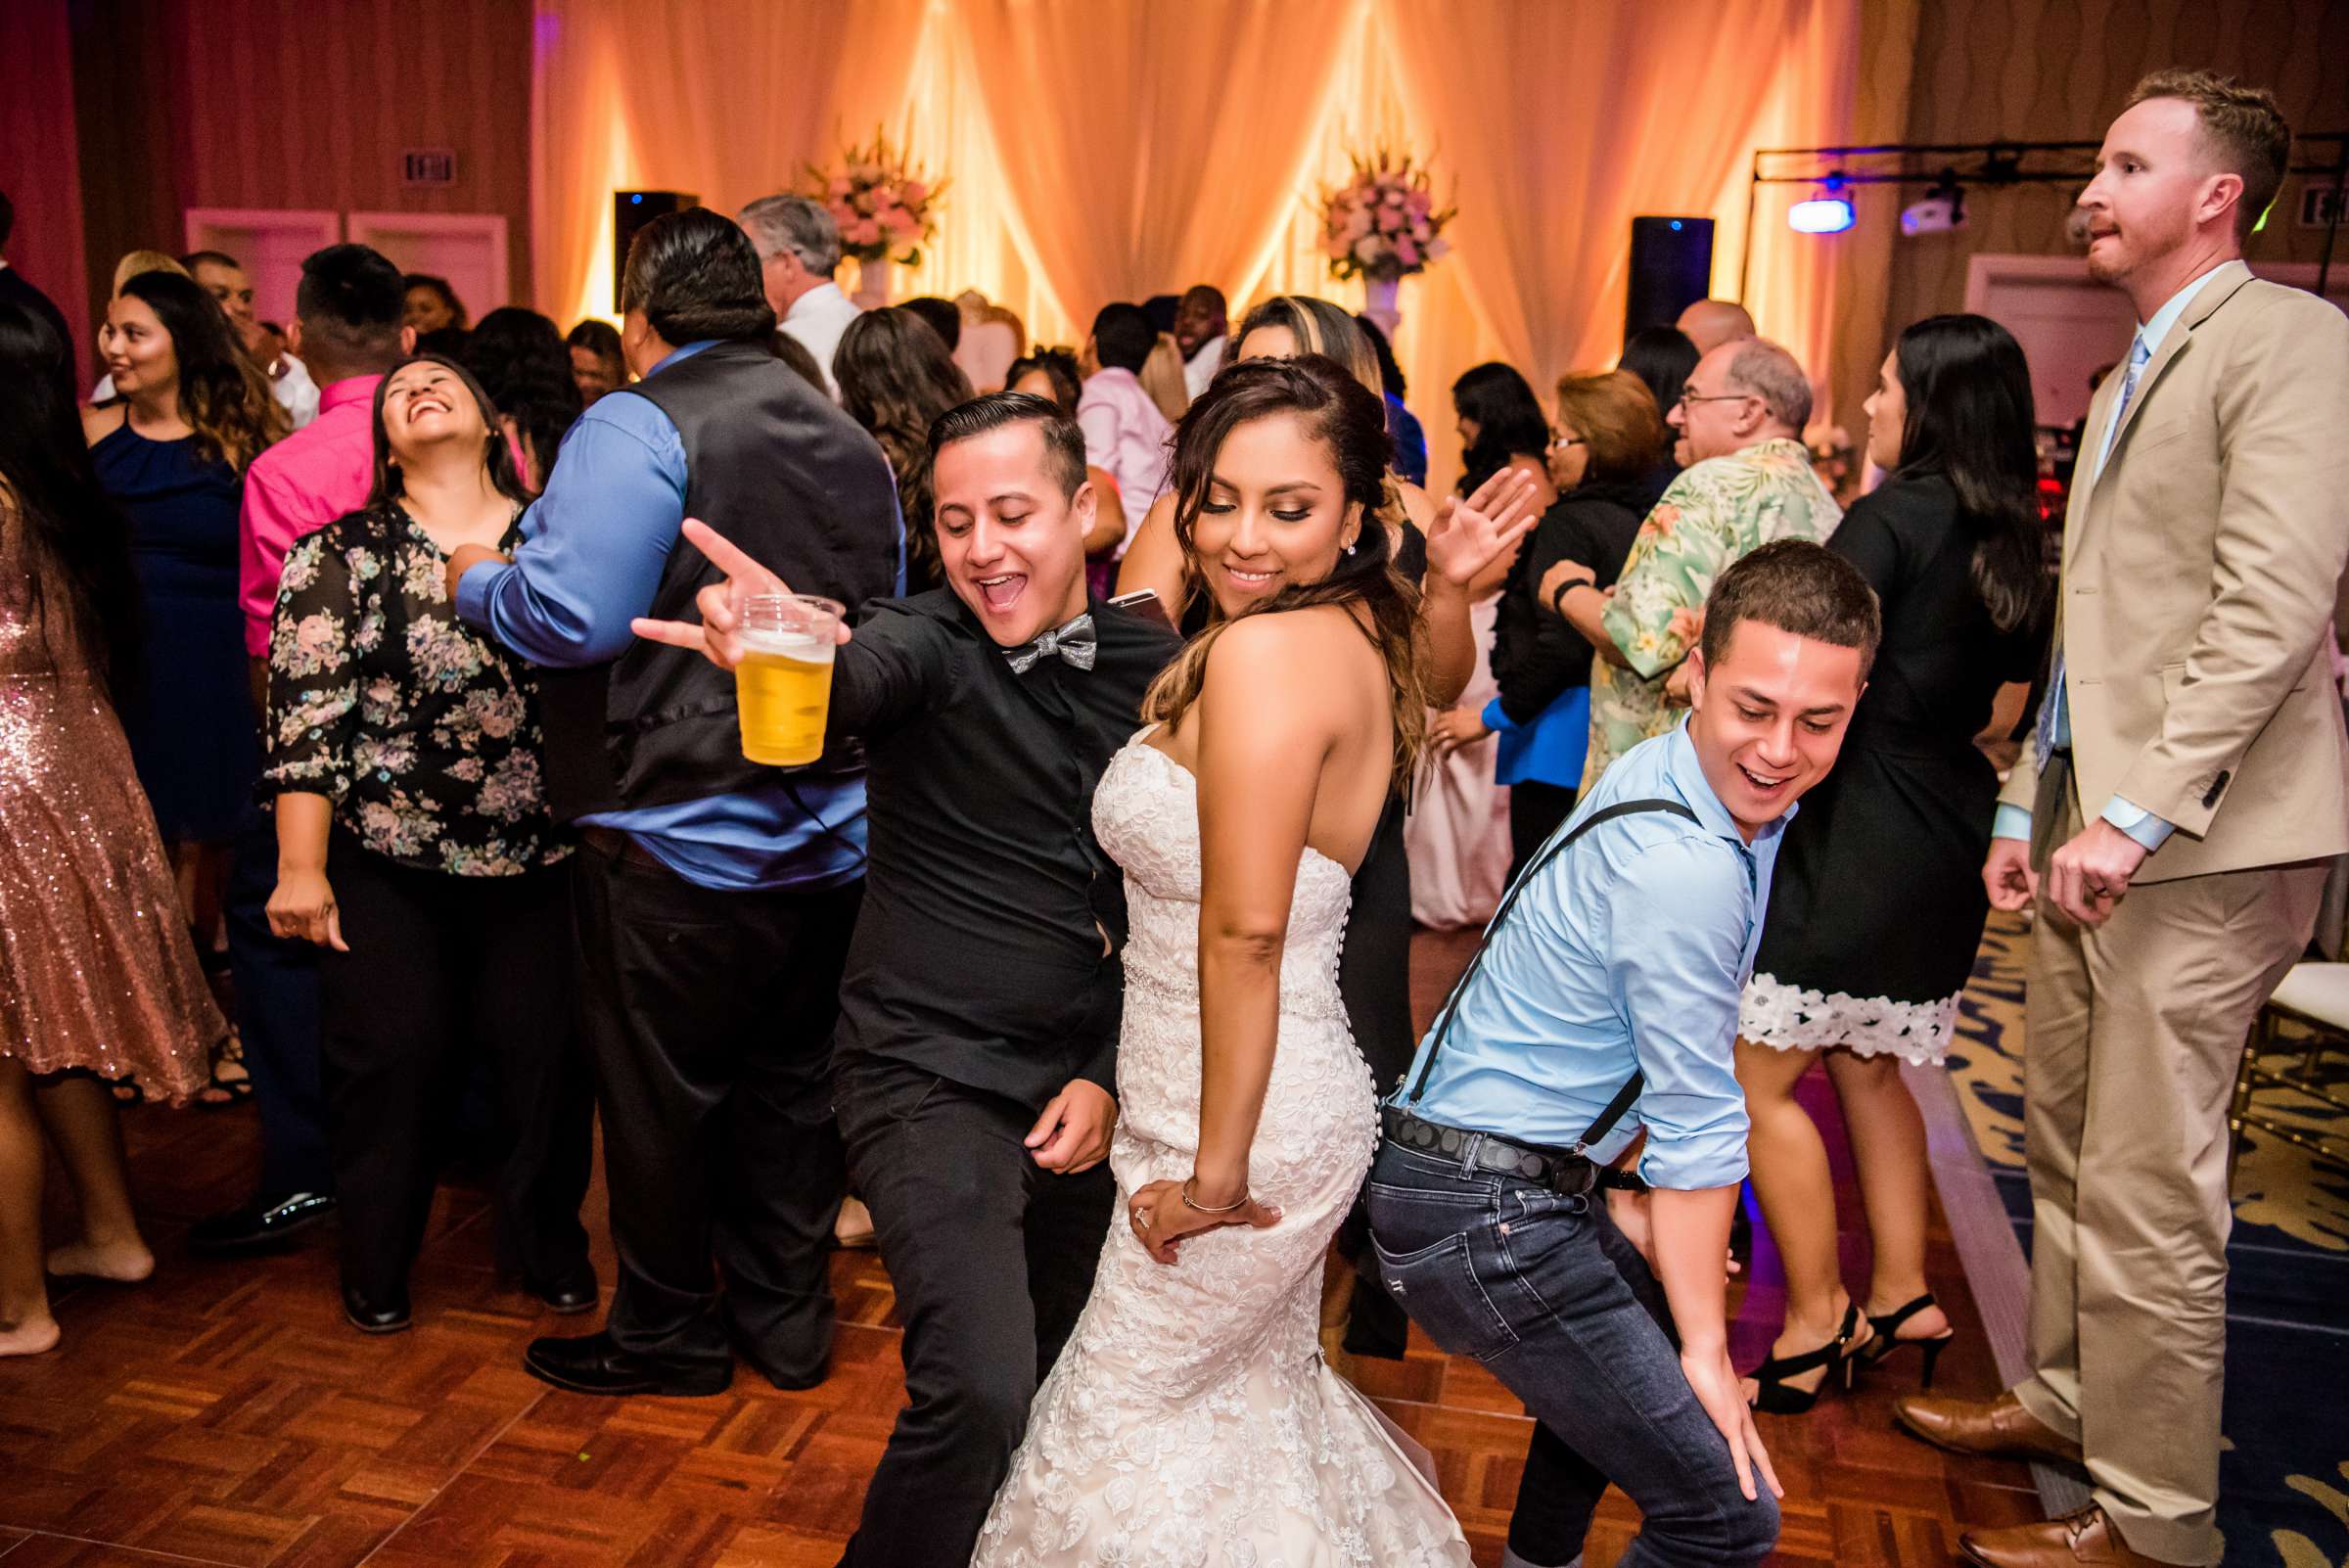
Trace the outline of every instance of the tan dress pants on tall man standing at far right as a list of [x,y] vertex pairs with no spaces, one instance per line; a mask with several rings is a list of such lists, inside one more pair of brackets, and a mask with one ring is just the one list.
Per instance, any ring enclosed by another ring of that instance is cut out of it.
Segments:
[[[2079,829],[2058,758],[2032,831],[2041,876]],[[2015,1394],[2079,1439],[2121,1537],[2166,1563],[2220,1561],[2227,1101],[2323,887],[2323,861],[2145,883],[2098,930],[2039,901],[2022,1056],[2032,1376]]]

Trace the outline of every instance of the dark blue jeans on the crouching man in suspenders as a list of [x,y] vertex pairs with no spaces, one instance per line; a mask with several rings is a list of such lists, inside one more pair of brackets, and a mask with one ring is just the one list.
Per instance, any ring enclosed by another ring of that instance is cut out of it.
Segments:
[[1510,1552],[1574,1561],[1614,1481],[1642,1516],[1623,1568],[1769,1556],[1778,1505],[1738,1491],[1729,1444],[1680,1371],[1663,1291],[1597,1195],[1388,1143],[1369,1167],[1369,1232],[1388,1291],[1428,1338],[1492,1368],[1539,1422]]

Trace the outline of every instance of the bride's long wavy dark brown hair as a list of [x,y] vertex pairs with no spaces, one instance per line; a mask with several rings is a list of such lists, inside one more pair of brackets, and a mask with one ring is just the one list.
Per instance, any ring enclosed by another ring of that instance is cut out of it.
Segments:
[[1362,507],[1362,528],[1353,554],[1339,554],[1327,577],[1290,582],[1271,599],[1247,606],[1233,620],[1217,620],[1200,631],[1151,683],[1142,716],[1167,728],[1198,702],[1207,681],[1207,653],[1226,627],[1247,615],[1280,615],[1322,603],[1362,606],[1369,615],[1367,636],[1386,662],[1386,685],[1395,718],[1395,789],[1409,789],[1428,742],[1428,685],[1419,657],[1419,589],[1395,570],[1402,495],[1386,472],[1386,404],[1327,354],[1297,359],[1247,359],[1224,366],[1205,394],[1174,427],[1174,538],[1182,542],[1191,573],[1198,573],[1193,523],[1207,505],[1214,458],[1224,439],[1247,425],[1280,413],[1294,413],[1306,430],[1330,448],[1346,500]]

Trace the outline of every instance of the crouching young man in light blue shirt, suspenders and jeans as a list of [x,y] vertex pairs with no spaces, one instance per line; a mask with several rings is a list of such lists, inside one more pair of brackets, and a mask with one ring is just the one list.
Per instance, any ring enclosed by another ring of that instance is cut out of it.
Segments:
[[[1386,1106],[1388,1289],[1539,1422],[1510,1568],[1579,1563],[1609,1481],[1642,1514],[1626,1568],[1759,1563],[1778,1540],[1729,1364],[1731,1047],[1778,836],[1877,636],[1875,592],[1818,545],[1724,570],[1687,723],[1623,753],[1517,878]],[[1637,1176],[1614,1169],[1635,1150]]]

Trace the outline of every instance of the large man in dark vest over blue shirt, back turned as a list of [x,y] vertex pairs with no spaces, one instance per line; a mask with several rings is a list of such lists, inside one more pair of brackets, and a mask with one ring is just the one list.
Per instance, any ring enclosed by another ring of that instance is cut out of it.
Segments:
[[[714,211],[637,235],[620,347],[644,380],[564,437],[512,561],[449,563],[458,615],[547,667],[547,793],[580,826],[583,1012],[620,1286],[601,1333],[536,1340],[587,1394],[716,1394],[738,1350],[822,1380],[843,1155],[827,1059],[864,876],[864,761],[749,763],[728,671],[639,643],[719,573],[700,516],[808,594],[890,594],[888,460],[775,359],[759,254]],[[723,1296],[712,1270],[723,1268]]]

